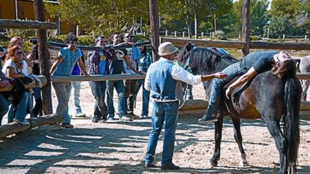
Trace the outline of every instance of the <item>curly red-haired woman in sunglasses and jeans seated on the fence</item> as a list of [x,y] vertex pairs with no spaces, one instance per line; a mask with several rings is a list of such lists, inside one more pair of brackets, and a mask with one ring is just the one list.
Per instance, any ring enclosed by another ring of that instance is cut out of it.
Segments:
[[[8,49],[7,58],[4,66],[2,67],[2,72],[8,78],[22,78],[24,77],[23,70],[23,57],[24,52],[20,46],[12,46]],[[15,113],[15,118],[13,119],[17,123],[28,125],[29,122],[25,120],[27,115],[27,104],[28,104],[28,93],[24,92],[21,94],[18,103],[13,103],[13,110]],[[10,121],[10,120],[9,120]]]

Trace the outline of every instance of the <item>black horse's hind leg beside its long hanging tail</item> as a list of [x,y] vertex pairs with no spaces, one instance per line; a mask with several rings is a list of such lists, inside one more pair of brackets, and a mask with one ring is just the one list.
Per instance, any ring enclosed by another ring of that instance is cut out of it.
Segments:
[[280,174],[287,174],[287,166],[286,166],[286,141],[283,133],[281,131],[279,122],[277,121],[267,121],[267,126],[269,133],[272,135],[276,142],[277,149],[280,153]]

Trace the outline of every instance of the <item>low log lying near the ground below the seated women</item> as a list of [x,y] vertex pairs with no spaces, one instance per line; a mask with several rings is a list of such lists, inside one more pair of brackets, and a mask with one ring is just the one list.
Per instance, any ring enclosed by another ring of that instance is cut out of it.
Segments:
[[38,126],[60,123],[62,121],[62,116],[58,114],[49,114],[37,118],[30,118],[28,121],[30,123],[28,125],[22,125],[14,121],[0,126],[0,139],[13,133],[20,133]]

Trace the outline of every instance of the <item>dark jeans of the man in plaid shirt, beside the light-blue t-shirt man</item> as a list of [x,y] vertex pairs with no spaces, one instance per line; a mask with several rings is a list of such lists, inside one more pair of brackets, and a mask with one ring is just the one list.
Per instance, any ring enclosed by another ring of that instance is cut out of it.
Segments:
[[107,115],[108,115],[107,105],[104,102],[106,82],[105,81],[90,81],[89,86],[91,87],[91,92],[96,99],[95,106],[94,106],[93,121],[106,120]]

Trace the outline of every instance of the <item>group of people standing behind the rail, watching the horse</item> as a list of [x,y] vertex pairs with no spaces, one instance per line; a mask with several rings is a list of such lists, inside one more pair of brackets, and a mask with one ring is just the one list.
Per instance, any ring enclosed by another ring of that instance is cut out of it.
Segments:
[[[69,34],[65,40],[67,47],[60,49],[58,59],[51,67],[51,74],[55,76],[80,75],[80,72],[78,74],[72,74],[75,66],[79,66],[77,69],[81,69],[85,76],[146,73],[149,65],[152,63],[152,58],[150,54],[147,53],[145,46],[136,47],[132,42],[132,35],[130,33],[125,33],[123,35],[124,42],[121,41],[120,33],[113,33],[111,41],[112,44],[108,45],[106,37],[97,36],[95,38],[95,45],[103,49],[88,51],[88,68],[86,71],[82,58],[83,53],[77,48],[78,39],[75,35]],[[123,45],[131,45],[132,48],[113,49],[114,46]],[[111,49],[104,49],[106,46]],[[143,111],[141,115],[135,115],[133,112],[136,94],[143,83],[144,80],[90,81],[89,85],[96,99],[92,122],[104,123],[107,120],[116,120],[113,106],[114,88],[118,96],[118,117],[120,120],[130,121],[132,119],[148,117],[149,92],[146,90],[143,90]],[[68,114],[68,103],[72,87],[71,82],[53,82],[52,84],[58,99],[56,113],[63,116],[62,126],[73,128],[73,125],[70,124],[70,116]],[[80,84],[75,86],[80,86]],[[79,92],[75,92],[74,94],[75,98],[78,98]],[[106,102],[105,95],[107,95]],[[77,109],[77,106],[79,106],[78,101],[77,99],[74,102],[77,112],[76,115],[85,116],[81,109]]]

